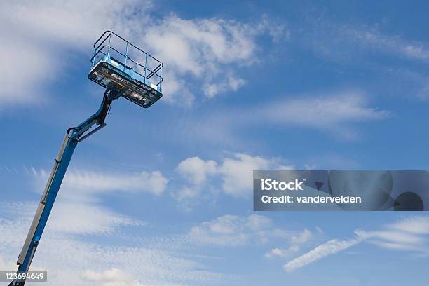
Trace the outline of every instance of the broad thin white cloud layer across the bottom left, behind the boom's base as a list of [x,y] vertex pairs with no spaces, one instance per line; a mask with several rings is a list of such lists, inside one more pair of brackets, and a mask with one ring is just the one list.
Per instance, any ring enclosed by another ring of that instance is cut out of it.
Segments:
[[[56,205],[54,212],[59,208],[60,205]],[[22,247],[34,214],[31,210],[29,203],[0,203],[1,271],[16,268],[8,261],[15,261]],[[81,209],[67,211],[79,216]],[[51,215],[43,233],[43,243],[39,245],[32,264],[33,269],[50,273],[48,285],[60,285],[66,280],[67,285],[71,286],[218,285],[219,281],[228,279],[220,273],[205,270],[205,266],[196,260],[184,258],[189,255],[177,252],[177,248],[175,251],[168,250],[163,240],[154,243],[158,238],[151,238],[151,247],[135,243],[135,230],[132,234],[128,233],[126,225],[109,233],[107,240],[88,240],[84,235],[93,232],[88,233],[85,229],[82,232],[79,228],[80,224],[85,224],[85,219],[90,218],[62,221],[67,226],[58,228],[55,226],[55,221],[60,219],[57,214]],[[105,238],[107,233],[102,231],[97,234]],[[120,243],[122,239],[128,242],[128,246]],[[58,255],[58,250],[61,250],[61,255]]]

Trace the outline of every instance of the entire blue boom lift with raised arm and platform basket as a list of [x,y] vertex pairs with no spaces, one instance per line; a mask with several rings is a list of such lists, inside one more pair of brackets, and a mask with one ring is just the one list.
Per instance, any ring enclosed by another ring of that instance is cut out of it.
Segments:
[[[119,97],[125,97],[144,108],[150,107],[162,97],[162,62],[111,31],[104,32],[95,41],[93,47],[92,68],[88,78],[106,88],[106,91],[98,111],[80,125],[67,130],[34,214],[27,239],[18,256],[17,277],[22,277],[23,273],[29,271],[77,144],[106,126],[104,120],[109,113],[111,103]],[[9,286],[22,286],[25,280],[25,278],[17,278]]]

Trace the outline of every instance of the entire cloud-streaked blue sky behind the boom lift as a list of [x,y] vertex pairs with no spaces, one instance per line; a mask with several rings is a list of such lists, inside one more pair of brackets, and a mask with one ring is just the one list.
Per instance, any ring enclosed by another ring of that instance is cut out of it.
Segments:
[[428,3],[0,5],[1,269],[114,29],[165,63],[164,96],[79,144],[32,264],[48,285],[428,285],[424,213],[252,212],[252,170],[428,169]]

